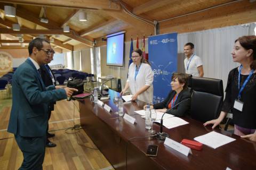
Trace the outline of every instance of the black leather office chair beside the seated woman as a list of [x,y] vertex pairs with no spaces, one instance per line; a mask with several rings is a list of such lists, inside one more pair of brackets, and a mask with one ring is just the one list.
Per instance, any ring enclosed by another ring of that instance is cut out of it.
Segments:
[[191,118],[201,122],[217,118],[223,103],[222,80],[192,77],[191,88]]

